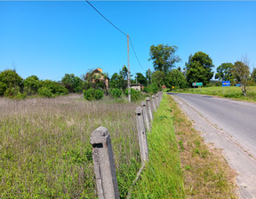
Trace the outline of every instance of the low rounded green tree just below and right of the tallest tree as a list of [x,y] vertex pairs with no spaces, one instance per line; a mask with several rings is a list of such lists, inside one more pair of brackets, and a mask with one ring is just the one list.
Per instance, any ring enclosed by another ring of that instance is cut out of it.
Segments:
[[182,74],[182,72],[179,69],[173,69],[167,74],[165,85],[168,88],[172,88],[172,86],[179,87],[180,89],[186,88],[186,77]]

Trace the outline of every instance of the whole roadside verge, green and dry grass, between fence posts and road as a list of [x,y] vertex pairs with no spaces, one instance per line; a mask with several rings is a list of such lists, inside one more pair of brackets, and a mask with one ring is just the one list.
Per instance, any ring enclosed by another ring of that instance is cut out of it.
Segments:
[[148,148],[132,198],[236,198],[236,172],[220,150],[204,144],[169,95],[154,114]]

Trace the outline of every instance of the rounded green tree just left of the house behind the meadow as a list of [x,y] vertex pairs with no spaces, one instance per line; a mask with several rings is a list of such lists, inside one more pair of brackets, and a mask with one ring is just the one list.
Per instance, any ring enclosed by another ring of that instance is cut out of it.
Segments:
[[65,74],[61,80],[68,92],[82,92],[83,91],[83,80],[74,74]]

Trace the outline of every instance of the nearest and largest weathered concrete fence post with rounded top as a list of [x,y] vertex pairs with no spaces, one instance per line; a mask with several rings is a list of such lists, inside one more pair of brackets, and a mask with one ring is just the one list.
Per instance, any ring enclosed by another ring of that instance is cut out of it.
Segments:
[[100,126],[92,131],[90,142],[92,144],[92,159],[99,199],[120,198],[108,129]]

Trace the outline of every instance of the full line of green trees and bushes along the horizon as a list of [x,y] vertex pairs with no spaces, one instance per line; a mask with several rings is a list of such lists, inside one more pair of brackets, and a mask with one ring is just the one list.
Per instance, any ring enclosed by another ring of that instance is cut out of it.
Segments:
[[[188,57],[184,68],[176,67],[180,57],[176,55],[175,45],[158,44],[149,49],[149,60],[153,61],[155,71],[146,71],[145,76],[136,73],[132,76],[131,84],[140,84],[143,92],[156,93],[162,88],[184,89],[192,87],[192,83],[211,85],[214,75],[214,65],[211,57],[204,52],[196,52]],[[256,68],[252,73],[249,60],[243,58],[235,64],[223,63],[217,68],[215,79],[230,81],[231,84],[241,84],[242,92],[246,95],[247,85],[256,84]],[[22,79],[15,70],[6,69],[0,73],[0,96],[24,99],[28,96],[56,97],[68,93],[84,92],[87,100],[99,100],[104,94],[114,98],[128,95],[128,69],[124,66],[118,73],[109,77],[102,73],[101,68],[89,70],[81,78],[74,74],[66,74],[60,82],[39,80],[37,76]],[[132,90],[132,100],[140,99],[140,92]]]

